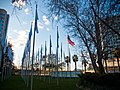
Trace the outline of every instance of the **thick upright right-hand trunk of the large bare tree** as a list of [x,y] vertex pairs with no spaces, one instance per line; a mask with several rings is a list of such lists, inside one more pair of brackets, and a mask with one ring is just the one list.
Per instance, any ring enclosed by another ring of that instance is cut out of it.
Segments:
[[93,10],[93,13],[94,13],[94,24],[95,24],[95,33],[96,33],[96,48],[97,48],[97,59],[98,59],[98,65],[99,65],[99,73],[100,74],[104,74],[105,71],[104,71],[104,67],[103,67],[103,64],[102,64],[102,40],[101,40],[101,32],[100,32],[100,26],[99,26],[99,20],[97,19],[97,16],[99,16],[99,2],[97,4],[97,8],[94,8],[93,6],[93,3],[92,3],[92,0],[90,0],[90,3],[91,3],[91,9]]

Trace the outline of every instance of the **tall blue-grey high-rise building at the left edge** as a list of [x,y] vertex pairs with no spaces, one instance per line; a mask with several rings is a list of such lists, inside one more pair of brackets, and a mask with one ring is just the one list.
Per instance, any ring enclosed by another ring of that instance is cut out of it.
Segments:
[[8,27],[9,15],[4,9],[0,9],[0,67],[2,62],[2,55],[6,50],[6,35]]

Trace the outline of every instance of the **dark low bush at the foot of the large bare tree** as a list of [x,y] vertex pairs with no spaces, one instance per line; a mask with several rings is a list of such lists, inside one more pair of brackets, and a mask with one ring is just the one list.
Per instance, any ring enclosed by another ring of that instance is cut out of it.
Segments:
[[118,88],[120,89],[120,73],[110,73],[104,75],[95,73],[82,74],[80,75],[80,81],[78,83],[79,86],[82,85],[89,88],[98,87],[107,88],[103,90],[118,90]]

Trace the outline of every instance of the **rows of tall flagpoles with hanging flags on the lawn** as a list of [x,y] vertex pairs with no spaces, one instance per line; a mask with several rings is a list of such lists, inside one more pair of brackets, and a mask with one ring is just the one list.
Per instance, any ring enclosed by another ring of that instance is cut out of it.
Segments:
[[[32,85],[33,85],[33,61],[34,61],[34,47],[35,47],[35,34],[36,33],[39,33],[38,32],[38,27],[37,27],[37,20],[38,20],[38,14],[37,14],[37,5],[36,5],[36,11],[35,11],[35,24],[34,24],[34,33],[33,33],[33,50],[32,50],[32,60],[31,60],[31,90],[32,90]],[[25,46],[25,49],[24,49],[24,53],[23,53],[23,58],[22,58],[22,69],[21,69],[21,76],[23,78],[23,80],[25,81],[26,85],[28,86],[28,82],[29,82],[29,76],[28,73],[29,73],[29,66],[30,66],[30,54],[31,54],[31,37],[32,37],[32,23],[31,23],[31,28],[30,28],[30,32],[29,32],[29,37],[28,37],[28,40],[27,40],[27,43],[26,43],[26,46]],[[67,37],[67,40],[68,40],[68,44],[71,44],[72,46],[74,46],[74,42],[72,42],[70,40],[70,37],[68,36]],[[69,45],[68,45],[69,46]],[[52,41],[51,41],[51,36],[50,36],[50,47],[49,47],[50,51],[49,51],[49,56],[48,56],[48,63],[50,65],[50,59],[52,58],[51,55],[52,55]],[[68,47],[69,49],[69,47]],[[56,71],[57,71],[57,85],[58,85],[58,51],[59,51],[59,32],[58,32],[58,26],[57,26],[57,45],[56,45]],[[40,65],[40,78],[41,78],[41,65],[42,65],[42,59],[43,59],[43,51],[42,51],[42,45],[41,45],[41,54],[40,54],[40,59],[39,59],[39,50],[38,50],[38,61],[39,61],[39,65]],[[61,43],[61,62],[62,62],[62,43]],[[52,55],[53,56],[53,55]],[[45,73],[46,73],[46,57],[47,57],[47,46],[46,46],[46,41],[45,41],[45,70],[44,70],[44,80],[45,80]],[[70,49],[69,49],[69,57],[70,56]],[[65,61],[65,52],[64,52],[64,61]],[[52,64],[53,65],[53,64]],[[24,66],[26,66],[26,68],[24,68]],[[61,65],[61,68],[62,68],[62,65]],[[49,67],[49,72],[50,72],[50,67]],[[50,74],[50,73],[49,73]],[[26,78],[27,77],[27,78]],[[49,82],[50,82],[50,75],[49,75]]]

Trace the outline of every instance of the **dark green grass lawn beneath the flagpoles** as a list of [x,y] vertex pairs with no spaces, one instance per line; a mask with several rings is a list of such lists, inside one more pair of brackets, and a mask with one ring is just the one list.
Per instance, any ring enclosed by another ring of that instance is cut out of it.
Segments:
[[[57,80],[55,78],[33,79],[33,90],[78,90],[76,83],[78,79],[59,79],[59,85],[57,86]],[[0,90],[30,90],[30,84],[27,88],[22,80],[21,76],[11,76],[8,80],[0,82]]]

